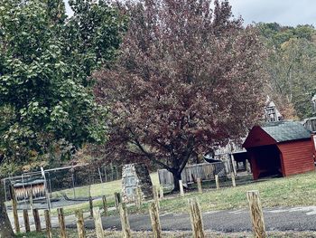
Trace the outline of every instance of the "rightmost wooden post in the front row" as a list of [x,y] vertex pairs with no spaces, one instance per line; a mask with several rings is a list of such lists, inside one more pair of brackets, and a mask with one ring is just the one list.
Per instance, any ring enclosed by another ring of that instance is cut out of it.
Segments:
[[257,190],[247,191],[246,197],[249,203],[250,217],[256,238],[265,238],[265,219],[262,212],[259,192]]

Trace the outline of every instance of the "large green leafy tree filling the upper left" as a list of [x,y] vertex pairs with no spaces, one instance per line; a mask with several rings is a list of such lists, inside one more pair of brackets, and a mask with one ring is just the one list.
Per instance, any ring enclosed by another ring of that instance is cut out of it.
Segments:
[[[67,19],[61,0],[1,3],[0,166],[46,154],[60,140],[76,150],[106,139],[107,108],[89,77],[116,57],[125,19],[106,1],[70,5]],[[9,234],[1,224],[0,237]]]

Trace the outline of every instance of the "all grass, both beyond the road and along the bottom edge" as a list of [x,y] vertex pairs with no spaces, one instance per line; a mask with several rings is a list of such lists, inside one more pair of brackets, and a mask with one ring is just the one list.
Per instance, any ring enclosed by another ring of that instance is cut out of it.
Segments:
[[[158,185],[157,174],[152,175],[153,184]],[[237,180],[238,181],[238,180]],[[226,181],[229,183],[229,181]],[[106,186],[107,188],[105,188]],[[316,173],[311,172],[307,174],[289,176],[285,178],[274,178],[265,181],[258,181],[246,185],[238,185],[237,187],[225,187],[216,189],[209,189],[209,183],[203,184],[203,194],[199,194],[196,190],[186,193],[183,197],[180,195],[167,195],[165,199],[160,202],[160,214],[166,213],[188,213],[188,198],[197,197],[200,201],[200,207],[203,212],[221,209],[246,208],[246,191],[259,190],[261,195],[261,202],[264,207],[273,206],[301,206],[301,205],[316,205]],[[213,185],[211,185],[213,186]],[[82,187],[82,189],[87,189]],[[121,190],[121,181],[113,181],[111,183],[92,186],[94,195],[107,195],[110,204],[113,205],[113,193]],[[100,192],[102,191],[102,192]],[[95,202],[94,205],[101,206],[101,202]],[[76,209],[83,209],[88,211],[88,203],[82,205],[73,205],[64,207],[65,214],[73,214]],[[136,210],[135,206],[128,207],[129,214],[148,214],[148,205],[143,204],[140,210]],[[54,214],[54,212],[53,212]],[[115,211],[110,214],[116,214]],[[59,237],[58,231],[54,231],[54,237]],[[77,237],[76,230],[68,230],[69,237]],[[17,237],[45,237],[41,233],[21,234]],[[87,237],[95,237],[94,231],[88,231]],[[107,237],[121,237],[119,232],[107,231]],[[133,237],[152,237],[150,232],[133,233]],[[163,237],[180,238],[191,237],[190,232],[177,233],[163,233]],[[253,237],[252,233],[206,233],[206,237],[226,238],[226,237]],[[270,232],[268,237],[316,237],[316,233],[312,232]]]

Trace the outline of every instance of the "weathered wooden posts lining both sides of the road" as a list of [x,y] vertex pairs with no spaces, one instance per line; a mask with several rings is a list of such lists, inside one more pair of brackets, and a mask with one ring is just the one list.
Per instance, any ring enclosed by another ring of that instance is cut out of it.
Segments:
[[[218,176],[216,176],[217,181],[217,189],[220,188],[219,182],[218,182]],[[231,176],[232,178],[232,186],[236,186],[235,177]],[[201,179],[197,179],[198,183],[198,191],[199,193],[202,193],[202,186],[201,186]],[[180,181],[180,186],[182,187],[182,181]],[[137,192],[135,197],[135,206],[136,208],[140,208],[140,206],[143,203],[143,196],[140,195],[141,193]],[[184,196],[184,191],[181,189],[181,196]],[[13,195],[14,198],[14,195]],[[248,191],[246,192],[246,198],[249,204],[249,211],[250,211],[250,217],[253,227],[253,233],[256,238],[265,238],[265,219],[261,207],[261,202],[259,198],[259,192],[258,191]],[[162,226],[160,223],[160,202],[164,199],[163,195],[163,189],[162,186],[157,187],[153,186],[153,201],[148,202],[148,210],[150,214],[150,220],[152,224],[152,230],[153,230],[153,237],[154,238],[160,238],[163,237],[162,234]],[[103,199],[103,215],[107,215],[107,199],[104,196]],[[115,201],[116,201],[116,210],[119,212],[121,225],[122,225],[122,237],[130,238],[132,237],[132,231],[129,224],[128,219],[128,213],[127,213],[127,207],[124,202],[122,202],[121,195],[119,193],[115,193]],[[16,201],[13,199],[13,207],[16,209]],[[95,232],[97,238],[104,238],[106,237],[106,232],[103,228],[102,220],[101,220],[101,212],[99,207],[93,207],[93,205],[90,205],[91,210],[91,216],[93,217],[94,224],[95,224]],[[38,209],[33,209],[33,219],[35,224],[35,230],[38,233],[42,232],[42,224],[41,219],[39,215]],[[63,208],[58,208],[58,222],[59,222],[59,230],[60,230],[60,237],[61,238],[67,238],[68,233],[66,229],[66,222],[65,222],[65,216],[63,212]],[[204,227],[203,227],[203,221],[202,221],[202,215],[200,211],[200,204],[197,198],[193,197],[188,199],[188,212],[190,214],[191,219],[191,228],[192,228],[192,236],[194,238],[203,238],[205,237]],[[78,237],[79,238],[85,238],[86,237],[86,231],[85,231],[85,221],[82,210],[77,210],[75,212],[76,220],[77,220],[77,230],[78,230]],[[51,225],[51,212],[49,210],[44,210],[44,219],[45,219],[45,230],[46,235],[48,238],[52,238],[52,225]],[[31,232],[31,225],[30,225],[30,219],[29,219],[29,213],[28,210],[23,210],[23,222],[25,227],[25,232],[29,233]],[[14,212],[14,228],[16,233],[20,233],[20,224],[19,224],[19,217],[18,213]]]

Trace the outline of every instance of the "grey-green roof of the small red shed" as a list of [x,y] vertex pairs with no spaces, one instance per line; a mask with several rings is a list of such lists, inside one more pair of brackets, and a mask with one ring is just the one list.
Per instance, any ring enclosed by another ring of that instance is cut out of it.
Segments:
[[276,142],[289,140],[311,138],[311,132],[305,129],[299,122],[294,121],[275,121],[268,122],[261,127],[269,134]]

